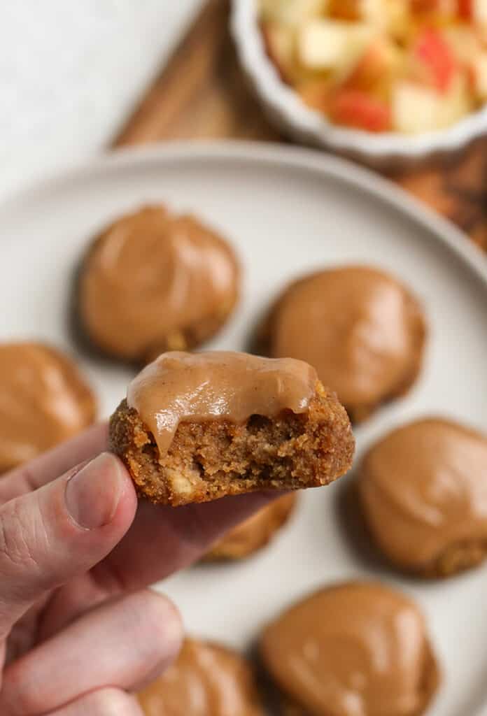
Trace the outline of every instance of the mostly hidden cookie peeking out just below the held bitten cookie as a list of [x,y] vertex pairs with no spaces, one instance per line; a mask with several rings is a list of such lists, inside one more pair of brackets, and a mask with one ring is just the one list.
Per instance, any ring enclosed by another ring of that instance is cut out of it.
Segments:
[[205,560],[243,559],[259,551],[289,520],[296,500],[297,495],[290,493],[261,508],[213,545]]

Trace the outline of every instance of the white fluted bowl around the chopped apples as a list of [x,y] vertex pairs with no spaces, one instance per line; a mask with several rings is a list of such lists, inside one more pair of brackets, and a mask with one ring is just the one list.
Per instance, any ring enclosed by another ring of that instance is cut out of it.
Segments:
[[299,142],[352,155],[370,165],[397,165],[454,153],[476,137],[487,134],[487,105],[445,130],[419,135],[373,134],[337,127],[307,107],[294,89],[279,77],[266,54],[256,0],[233,0],[231,33],[244,72],[267,115],[279,129]]

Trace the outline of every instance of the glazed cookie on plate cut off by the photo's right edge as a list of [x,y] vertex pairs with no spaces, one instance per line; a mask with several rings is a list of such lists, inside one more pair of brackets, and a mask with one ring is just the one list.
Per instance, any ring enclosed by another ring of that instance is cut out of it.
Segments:
[[362,460],[357,494],[380,551],[400,569],[449,576],[487,556],[487,437],[429,418]]

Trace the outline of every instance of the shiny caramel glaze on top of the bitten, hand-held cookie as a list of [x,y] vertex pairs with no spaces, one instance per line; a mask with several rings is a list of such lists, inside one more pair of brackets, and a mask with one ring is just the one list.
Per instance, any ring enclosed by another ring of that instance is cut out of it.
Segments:
[[242,425],[251,415],[306,412],[316,385],[314,369],[291,358],[170,352],[132,380],[127,404],[138,411],[160,455],[165,455],[182,421],[228,420]]

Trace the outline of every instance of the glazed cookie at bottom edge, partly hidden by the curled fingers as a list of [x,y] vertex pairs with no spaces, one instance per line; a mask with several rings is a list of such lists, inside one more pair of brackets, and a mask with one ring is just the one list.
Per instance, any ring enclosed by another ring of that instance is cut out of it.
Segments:
[[138,700],[145,716],[264,716],[246,659],[196,639],[185,640],[175,663]]

